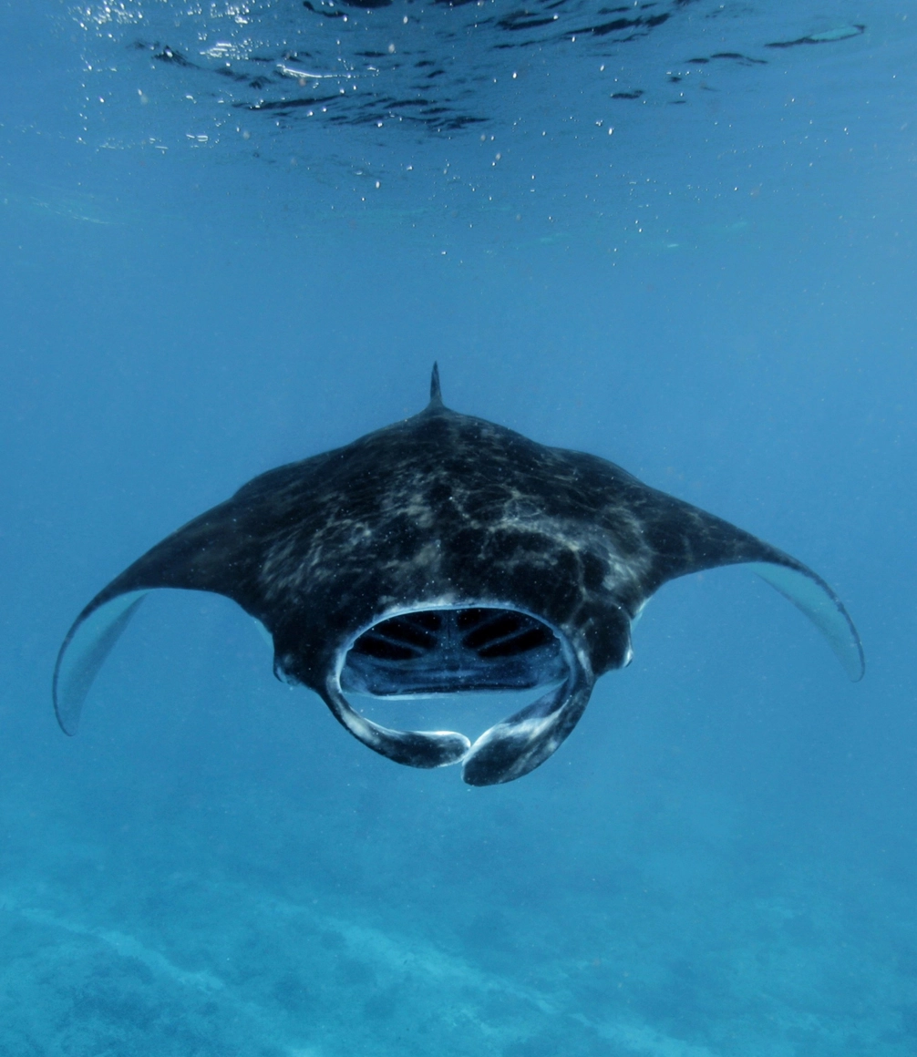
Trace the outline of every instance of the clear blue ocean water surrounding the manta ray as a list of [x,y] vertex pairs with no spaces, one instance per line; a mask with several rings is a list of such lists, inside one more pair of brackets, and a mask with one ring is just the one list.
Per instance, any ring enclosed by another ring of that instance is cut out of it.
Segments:
[[[0,1053],[917,1051],[914,4],[0,18]],[[865,680],[748,571],[677,580],[470,789],[163,593],[66,738],[89,598],[435,359],[806,561]]]

